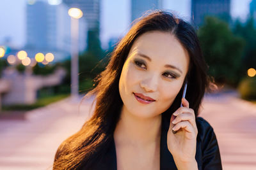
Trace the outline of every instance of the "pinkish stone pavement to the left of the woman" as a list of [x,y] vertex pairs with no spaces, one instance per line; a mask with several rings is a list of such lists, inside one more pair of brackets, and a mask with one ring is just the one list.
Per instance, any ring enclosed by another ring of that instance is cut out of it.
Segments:
[[26,113],[26,120],[0,120],[0,169],[52,169],[60,143],[85,122],[92,101],[64,99]]

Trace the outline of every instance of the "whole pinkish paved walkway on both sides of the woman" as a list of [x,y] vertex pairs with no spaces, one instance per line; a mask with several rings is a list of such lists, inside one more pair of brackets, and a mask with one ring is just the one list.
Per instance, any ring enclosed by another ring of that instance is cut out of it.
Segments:
[[[91,101],[65,99],[26,113],[26,120],[0,120],[0,169],[51,169],[60,143],[88,118]],[[214,127],[223,169],[256,169],[256,105],[227,95],[205,97],[201,117]]]

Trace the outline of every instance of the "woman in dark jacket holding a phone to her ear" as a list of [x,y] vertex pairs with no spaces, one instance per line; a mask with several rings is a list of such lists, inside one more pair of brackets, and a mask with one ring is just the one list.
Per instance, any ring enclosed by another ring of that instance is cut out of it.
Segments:
[[60,145],[53,168],[222,169],[214,131],[198,117],[206,71],[191,25],[166,11],[140,18],[88,94],[92,118]]

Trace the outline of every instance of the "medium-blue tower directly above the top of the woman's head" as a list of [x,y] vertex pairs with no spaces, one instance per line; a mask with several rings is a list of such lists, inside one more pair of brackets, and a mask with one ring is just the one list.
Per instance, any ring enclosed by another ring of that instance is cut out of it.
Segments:
[[162,6],[162,0],[132,0],[131,21],[141,17],[147,10],[160,10]]

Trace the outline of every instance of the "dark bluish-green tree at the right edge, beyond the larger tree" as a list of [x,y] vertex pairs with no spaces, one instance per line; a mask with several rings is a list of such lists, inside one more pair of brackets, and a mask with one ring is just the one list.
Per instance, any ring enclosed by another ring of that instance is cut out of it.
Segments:
[[245,24],[237,20],[234,26],[234,34],[246,40],[243,52],[243,62],[246,69],[256,67],[256,29],[253,25],[253,18],[248,18]]

